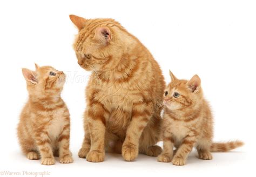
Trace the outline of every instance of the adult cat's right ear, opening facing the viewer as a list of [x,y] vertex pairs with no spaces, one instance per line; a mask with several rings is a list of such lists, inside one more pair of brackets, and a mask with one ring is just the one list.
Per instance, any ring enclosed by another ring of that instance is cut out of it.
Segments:
[[110,29],[106,26],[100,26],[95,30],[95,37],[96,40],[102,43],[107,43],[111,40],[111,32]]

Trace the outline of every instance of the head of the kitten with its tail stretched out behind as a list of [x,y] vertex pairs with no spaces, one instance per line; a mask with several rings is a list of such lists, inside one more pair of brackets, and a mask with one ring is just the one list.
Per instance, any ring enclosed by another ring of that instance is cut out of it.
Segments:
[[203,91],[200,87],[201,80],[194,75],[190,80],[179,80],[170,71],[171,83],[164,93],[164,105],[169,110],[184,110],[195,107],[201,103]]

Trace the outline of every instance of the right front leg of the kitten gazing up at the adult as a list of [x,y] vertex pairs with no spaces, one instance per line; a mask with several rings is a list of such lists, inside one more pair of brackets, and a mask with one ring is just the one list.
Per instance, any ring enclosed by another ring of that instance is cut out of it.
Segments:
[[62,164],[69,164],[73,162],[72,154],[69,150],[70,139],[70,124],[64,126],[62,132],[59,135],[59,162]]

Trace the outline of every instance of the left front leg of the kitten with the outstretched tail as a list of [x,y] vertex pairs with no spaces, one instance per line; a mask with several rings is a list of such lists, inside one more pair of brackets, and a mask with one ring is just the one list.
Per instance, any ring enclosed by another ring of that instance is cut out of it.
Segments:
[[172,138],[171,133],[168,130],[164,131],[164,150],[157,157],[157,161],[171,162],[172,155],[173,155],[173,144],[174,144],[174,140]]

